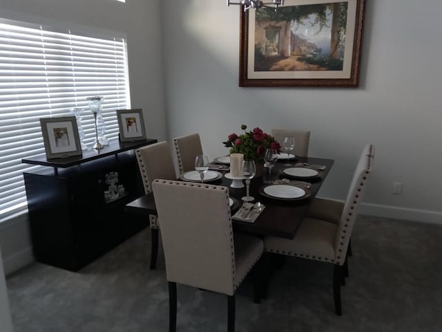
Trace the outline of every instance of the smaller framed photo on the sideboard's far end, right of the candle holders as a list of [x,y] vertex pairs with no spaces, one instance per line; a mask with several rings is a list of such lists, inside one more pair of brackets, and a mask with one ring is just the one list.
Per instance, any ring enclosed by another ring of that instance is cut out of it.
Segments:
[[117,109],[120,142],[145,140],[142,109]]

